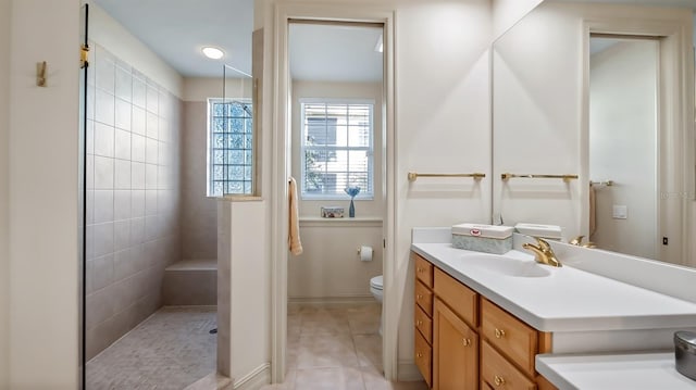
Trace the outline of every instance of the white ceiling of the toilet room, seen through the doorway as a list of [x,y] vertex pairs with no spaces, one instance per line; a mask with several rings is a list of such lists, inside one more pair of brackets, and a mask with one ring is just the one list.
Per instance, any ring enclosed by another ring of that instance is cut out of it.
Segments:
[[293,23],[290,76],[294,80],[381,81],[383,53],[375,50],[381,41],[378,27]]

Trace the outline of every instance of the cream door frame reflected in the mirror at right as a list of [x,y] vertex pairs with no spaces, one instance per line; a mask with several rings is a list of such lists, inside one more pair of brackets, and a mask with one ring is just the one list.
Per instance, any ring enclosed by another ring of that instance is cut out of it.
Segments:
[[[672,17],[620,18],[593,15],[583,22],[583,75],[581,117],[582,177],[589,177],[589,36],[608,34],[617,36],[645,36],[659,39],[658,113],[657,113],[657,232],[658,236],[676,238],[675,244],[658,243],[659,259],[679,257],[683,265],[689,261],[691,244],[686,239],[691,231],[691,201],[694,199],[694,67],[691,20]],[[681,81],[681,83],[680,83]],[[588,197],[583,199],[583,215],[589,215]],[[675,199],[676,198],[676,199]],[[668,200],[674,200],[668,202]],[[588,221],[582,230],[588,231]],[[657,240],[657,237],[656,237]]]

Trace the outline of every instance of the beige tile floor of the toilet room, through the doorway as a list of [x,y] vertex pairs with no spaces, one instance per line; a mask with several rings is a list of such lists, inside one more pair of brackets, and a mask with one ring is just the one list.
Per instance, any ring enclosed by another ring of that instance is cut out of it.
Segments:
[[424,390],[424,382],[389,382],[382,368],[381,306],[290,305],[288,373],[262,390]]

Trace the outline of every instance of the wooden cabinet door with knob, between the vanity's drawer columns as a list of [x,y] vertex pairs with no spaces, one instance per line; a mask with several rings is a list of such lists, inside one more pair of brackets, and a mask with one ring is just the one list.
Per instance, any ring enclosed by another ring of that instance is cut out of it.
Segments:
[[478,335],[435,299],[433,389],[478,389]]

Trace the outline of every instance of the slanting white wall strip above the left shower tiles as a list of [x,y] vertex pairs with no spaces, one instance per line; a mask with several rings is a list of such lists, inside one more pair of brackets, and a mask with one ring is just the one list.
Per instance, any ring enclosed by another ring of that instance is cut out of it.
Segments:
[[99,42],[114,56],[152,78],[164,89],[182,98],[182,76],[134,37],[95,1],[89,2],[89,39]]

